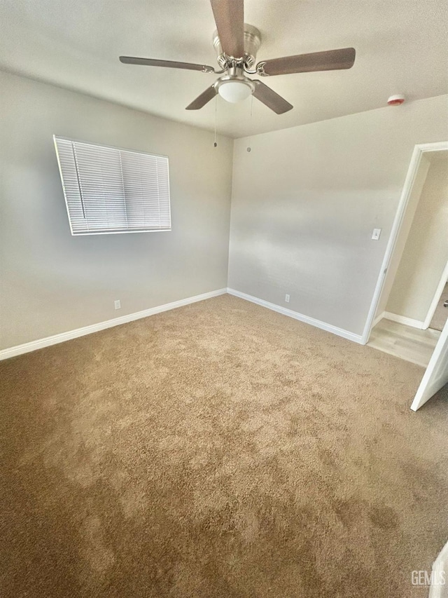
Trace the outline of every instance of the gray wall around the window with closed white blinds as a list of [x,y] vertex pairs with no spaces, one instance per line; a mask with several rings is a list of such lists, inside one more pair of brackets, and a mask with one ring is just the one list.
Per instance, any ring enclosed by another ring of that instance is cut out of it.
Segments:
[[[0,88],[0,348],[227,285],[232,140],[6,73]],[[72,237],[53,133],[167,154],[172,231]]]

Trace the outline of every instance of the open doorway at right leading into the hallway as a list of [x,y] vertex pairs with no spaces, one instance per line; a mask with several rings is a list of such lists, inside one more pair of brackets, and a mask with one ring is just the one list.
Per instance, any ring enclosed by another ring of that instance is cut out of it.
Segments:
[[[367,344],[422,367],[440,354],[448,320],[447,231],[448,142],[416,146],[363,335]],[[437,366],[441,386],[448,381],[444,369]]]

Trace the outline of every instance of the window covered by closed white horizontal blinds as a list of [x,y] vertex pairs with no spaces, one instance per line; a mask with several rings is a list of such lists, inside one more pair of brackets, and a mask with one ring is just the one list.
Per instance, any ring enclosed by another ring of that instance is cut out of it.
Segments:
[[171,230],[167,156],[54,139],[72,235]]

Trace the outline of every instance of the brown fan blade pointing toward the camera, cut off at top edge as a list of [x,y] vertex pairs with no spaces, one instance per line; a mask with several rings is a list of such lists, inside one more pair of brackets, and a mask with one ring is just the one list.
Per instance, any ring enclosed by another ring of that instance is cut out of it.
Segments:
[[243,0],[210,0],[219,41],[228,56],[244,56]]

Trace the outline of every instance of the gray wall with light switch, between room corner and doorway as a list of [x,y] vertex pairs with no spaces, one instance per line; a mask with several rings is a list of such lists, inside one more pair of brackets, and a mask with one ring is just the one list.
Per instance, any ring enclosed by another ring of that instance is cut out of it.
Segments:
[[414,145],[447,138],[439,96],[235,141],[229,287],[362,334]]

